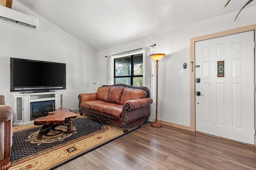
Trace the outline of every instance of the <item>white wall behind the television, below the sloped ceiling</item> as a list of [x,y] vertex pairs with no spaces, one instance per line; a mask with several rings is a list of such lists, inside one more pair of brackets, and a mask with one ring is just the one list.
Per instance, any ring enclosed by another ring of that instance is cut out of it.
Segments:
[[[14,106],[10,92],[10,57],[66,63],[63,106],[78,109],[78,94],[94,92],[97,52],[14,1],[12,9],[39,18],[38,31],[0,22],[0,94]],[[67,106],[69,102],[69,106]]]

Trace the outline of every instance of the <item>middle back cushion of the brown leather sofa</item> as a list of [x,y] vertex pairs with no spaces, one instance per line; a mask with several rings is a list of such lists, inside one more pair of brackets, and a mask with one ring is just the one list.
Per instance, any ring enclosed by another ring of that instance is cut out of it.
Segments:
[[107,102],[120,104],[120,99],[123,93],[124,87],[122,86],[112,86],[108,93]]

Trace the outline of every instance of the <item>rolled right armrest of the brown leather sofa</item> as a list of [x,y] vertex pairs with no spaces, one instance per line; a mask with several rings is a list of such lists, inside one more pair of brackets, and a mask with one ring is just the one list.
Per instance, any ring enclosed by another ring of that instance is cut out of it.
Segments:
[[128,111],[133,111],[142,107],[146,107],[152,103],[152,98],[140,98],[136,100],[128,100],[124,103],[124,106],[128,105]]

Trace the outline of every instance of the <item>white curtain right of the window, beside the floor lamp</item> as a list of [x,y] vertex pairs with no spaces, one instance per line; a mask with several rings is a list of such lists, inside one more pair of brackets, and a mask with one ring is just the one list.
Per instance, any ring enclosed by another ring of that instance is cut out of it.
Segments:
[[[150,54],[152,54],[152,47],[143,47],[143,85],[150,90],[150,97],[153,99],[153,70]],[[150,105],[150,117],[148,121],[154,122],[153,104]]]

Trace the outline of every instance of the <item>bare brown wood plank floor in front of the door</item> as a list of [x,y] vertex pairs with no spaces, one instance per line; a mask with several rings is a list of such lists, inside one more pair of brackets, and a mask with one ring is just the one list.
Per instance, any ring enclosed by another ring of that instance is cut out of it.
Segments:
[[256,170],[256,147],[150,124],[56,170]]

